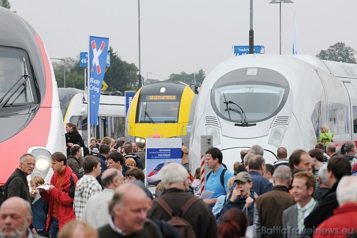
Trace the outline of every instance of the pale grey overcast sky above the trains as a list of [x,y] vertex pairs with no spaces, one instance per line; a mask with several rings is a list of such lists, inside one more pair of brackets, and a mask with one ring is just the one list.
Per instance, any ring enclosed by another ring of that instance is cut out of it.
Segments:
[[[109,37],[122,60],[139,66],[137,0],[9,0],[11,10],[40,34],[52,58],[88,51],[88,35]],[[254,45],[279,54],[279,4],[253,1]],[[292,54],[296,11],[299,54],[336,42],[357,50],[356,0],[293,0],[282,4],[282,54]],[[141,0],[141,73],[209,73],[248,45],[249,0]]]

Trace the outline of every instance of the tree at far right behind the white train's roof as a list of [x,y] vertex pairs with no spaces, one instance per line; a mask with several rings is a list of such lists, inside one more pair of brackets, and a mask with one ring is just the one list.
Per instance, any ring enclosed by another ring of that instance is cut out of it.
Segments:
[[330,45],[327,50],[321,50],[316,57],[320,60],[356,63],[355,54],[356,51],[352,47],[346,46],[343,42],[337,42],[334,45]]

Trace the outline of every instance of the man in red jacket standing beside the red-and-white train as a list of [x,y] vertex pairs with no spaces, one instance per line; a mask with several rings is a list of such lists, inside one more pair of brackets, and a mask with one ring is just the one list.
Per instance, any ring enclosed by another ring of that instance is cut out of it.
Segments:
[[50,231],[50,236],[56,238],[59,229],[75,219],[73,200],[78,178],[67,166],[67,158],[61,152],[51,155],[51,168],[54,170],[54,175],[49,189],[48,191],[40,189],[40,194],[49,203],[46,232]]

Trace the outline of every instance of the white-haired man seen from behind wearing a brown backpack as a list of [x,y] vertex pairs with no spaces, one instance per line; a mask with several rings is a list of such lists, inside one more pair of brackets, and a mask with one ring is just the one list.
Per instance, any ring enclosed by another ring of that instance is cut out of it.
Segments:
[[168,221],[183,238],[217,237],[217,223],[209,207],[185,192],[190,183],[187,170],[168,163],[160,173],[166,191],[154,200],[148,215]]

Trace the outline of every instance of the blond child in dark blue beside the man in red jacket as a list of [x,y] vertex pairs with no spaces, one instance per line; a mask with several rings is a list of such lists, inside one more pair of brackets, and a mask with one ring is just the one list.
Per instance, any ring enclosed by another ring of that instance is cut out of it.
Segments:
[[34,227],[39,235],[49,237],[46,234],[46,219],[48,213],[48,203],[41,198],[39,191],[36,189],[38,186],[44,184],[44,180],[41,176],[34,176],[31,181],[31,195],[32,195],[32,216]]

